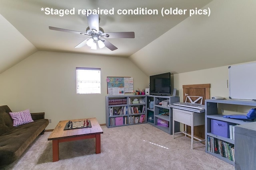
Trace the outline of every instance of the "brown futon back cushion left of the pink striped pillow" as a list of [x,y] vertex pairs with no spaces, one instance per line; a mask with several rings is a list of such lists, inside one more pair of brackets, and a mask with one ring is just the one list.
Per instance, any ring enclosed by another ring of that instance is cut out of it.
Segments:
[[8,106],[0,106],[0,135],[13,128],[12,118],[9,112],[11,112],[11,110]]

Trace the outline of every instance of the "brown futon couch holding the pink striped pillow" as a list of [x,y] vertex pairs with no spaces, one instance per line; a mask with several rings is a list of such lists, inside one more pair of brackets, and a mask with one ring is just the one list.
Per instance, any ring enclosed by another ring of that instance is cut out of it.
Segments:
[[31,113],[33,122],[14,127],[10,112],[8,106],[0,106],[0,167],[18,159],[49,124],[44,113]]

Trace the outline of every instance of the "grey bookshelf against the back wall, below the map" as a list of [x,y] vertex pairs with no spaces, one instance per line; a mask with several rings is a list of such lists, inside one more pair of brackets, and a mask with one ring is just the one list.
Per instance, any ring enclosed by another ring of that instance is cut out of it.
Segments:
[[[138,99],[139,103],[132,103],[134,99]],[[106,126],[117,127],[146,123],[146,108],[146,95],[106,96]]]

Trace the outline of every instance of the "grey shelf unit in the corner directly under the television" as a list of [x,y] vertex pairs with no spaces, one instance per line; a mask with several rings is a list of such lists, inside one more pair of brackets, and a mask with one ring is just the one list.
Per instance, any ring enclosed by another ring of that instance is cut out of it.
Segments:
[[[159,103],[163,100],[169,101],[169,104],[179,102],[180,98],[177,96],[154,96],[154,95],[148,95],[147,96],[147,102],[148,102],[148,109],[147,114],[148,117],[152,117],[152,121],[148,119],[148,123],[157,127],[158,129],[161,129],[162,131],[172,134],[172,108],[168,106],[162,106]],[[150,108],[150,102],[154,102],[153,108]],[[168,123],[168,127],[162,126],[158,123],[158,120],[164,120]],[[175,132],[180,131],[180,123],[175,122],[174,124]]]

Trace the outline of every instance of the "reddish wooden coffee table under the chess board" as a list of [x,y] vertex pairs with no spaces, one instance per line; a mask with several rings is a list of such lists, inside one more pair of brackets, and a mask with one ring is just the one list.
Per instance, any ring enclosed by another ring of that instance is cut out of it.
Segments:
[[[75,121],[84,121],[86,119],[74,119]],[[100,134],[103,133],[100,124],[97,119],[88,118],[91,121],[92,127],[64,130],[66,123],[70,120],[60,121],[51,135],[48,137],[48,141],[52,141],[52,162],[59,160],[59,143],[68,141],[77,141],[81,139],[95,138],[96,141],[96,154],[100,153]]]

